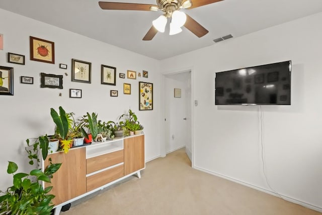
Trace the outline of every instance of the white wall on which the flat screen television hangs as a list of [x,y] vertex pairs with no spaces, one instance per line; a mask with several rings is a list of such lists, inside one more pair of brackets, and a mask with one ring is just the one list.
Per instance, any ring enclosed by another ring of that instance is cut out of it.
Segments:
[[264,159],[273,189],[322,210],[322,13],[162,61],[193,70],[194,167],[271,190],[261,161],[259,106],[214,105],[215,72],[292,60],[292,104],[262,106]]

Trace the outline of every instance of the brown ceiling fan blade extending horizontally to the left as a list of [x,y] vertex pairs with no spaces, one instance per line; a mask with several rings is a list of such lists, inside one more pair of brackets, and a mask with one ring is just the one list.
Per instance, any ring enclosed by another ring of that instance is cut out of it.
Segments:
[[103,10],[126,10],[126,11],[150,11],[150,7],[155,5],[116,3],[116,2],[99,2]]

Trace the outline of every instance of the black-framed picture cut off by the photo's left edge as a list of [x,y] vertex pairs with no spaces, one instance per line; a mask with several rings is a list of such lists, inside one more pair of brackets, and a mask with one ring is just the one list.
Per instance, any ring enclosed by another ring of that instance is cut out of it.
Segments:
[[14,68],[0,66],[0,95],[14,95]]

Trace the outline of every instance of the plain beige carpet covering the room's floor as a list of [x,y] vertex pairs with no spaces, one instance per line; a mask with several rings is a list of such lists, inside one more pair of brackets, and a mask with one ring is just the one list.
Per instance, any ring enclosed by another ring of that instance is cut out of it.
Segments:
[[180,149],[146,163],[141,179],[107,188],[62,215],[322,214],[191,168]]

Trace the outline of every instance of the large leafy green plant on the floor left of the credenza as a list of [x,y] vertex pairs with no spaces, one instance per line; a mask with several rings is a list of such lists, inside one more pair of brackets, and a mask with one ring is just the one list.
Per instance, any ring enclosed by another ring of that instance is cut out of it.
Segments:
[[[45,160],[48,154],[48,138],[39,137],[35,144],[32,146],[32,150],[28,152],[28,157],[31,161],[36,159],[37,150],[41,149],[42,157]],[[29,140],[27,140],[28,147]],[[30,151],[30,152],[29,152]],[[30,157],[31,156],[31,157]],[[33,164],[33,162],[29,162]],[[52,189],[52,186],[43,189],[39,181],[49,182],[52,175],[60,168],[61,164],[50,164],[42,171],[39,169],[33,169],[30,173],[16,173],[18,165],[15,162],[9,161],[7,173],[13,175],[13,185],[8,187],[6,191],[0,191],[4,195],[0,196],[0,214],[51,214],[51,210],[54,205],[51,200],[55,197],[48,192]],[[32,181],[30,177],[36,177],[36,180]]]

